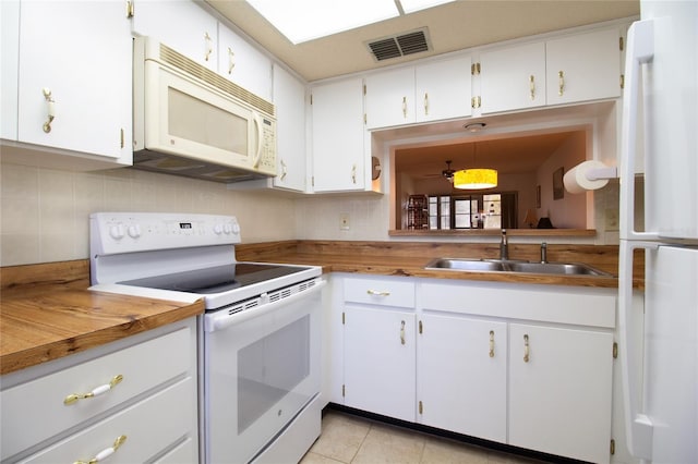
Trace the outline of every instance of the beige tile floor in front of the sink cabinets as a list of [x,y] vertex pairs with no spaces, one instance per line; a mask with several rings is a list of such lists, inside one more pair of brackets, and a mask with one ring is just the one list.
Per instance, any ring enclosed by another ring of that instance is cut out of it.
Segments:
[[300,464],[540,464],[477,445],[327,411],[322,434]]

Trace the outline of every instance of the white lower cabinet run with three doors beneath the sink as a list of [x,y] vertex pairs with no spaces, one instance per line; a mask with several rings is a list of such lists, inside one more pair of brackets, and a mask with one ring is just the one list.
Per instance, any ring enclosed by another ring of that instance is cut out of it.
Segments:
[[610,461],[613,289],[346,276],[340,300],[345,405]]

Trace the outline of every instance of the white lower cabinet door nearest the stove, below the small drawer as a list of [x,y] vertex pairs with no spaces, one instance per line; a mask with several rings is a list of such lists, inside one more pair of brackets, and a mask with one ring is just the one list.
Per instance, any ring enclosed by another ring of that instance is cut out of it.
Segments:
[[414,313],[345,306],[345,405],[414,422]]

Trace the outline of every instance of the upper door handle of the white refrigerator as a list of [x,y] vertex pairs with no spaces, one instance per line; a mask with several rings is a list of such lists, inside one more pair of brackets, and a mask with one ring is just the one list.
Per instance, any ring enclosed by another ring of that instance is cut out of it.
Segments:
[[[659,235],[635,230],[635,157],[638,133],[638,98],[640,95],[640,64],[654,56],[654,23],[652,20],[637,21],[628,29],[628,49],[625,61],[625,97],[621,124],[621,239],[657,240]],[[645,130],[645,129],[643,129]],[[643,133],[643,132],[642,132]]]

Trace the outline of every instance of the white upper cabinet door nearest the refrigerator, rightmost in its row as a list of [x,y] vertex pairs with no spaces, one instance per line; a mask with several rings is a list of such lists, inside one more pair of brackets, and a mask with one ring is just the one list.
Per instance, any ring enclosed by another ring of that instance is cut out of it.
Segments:
[[547,105],[619,97],[619,37],[610,28],[547,40]]

